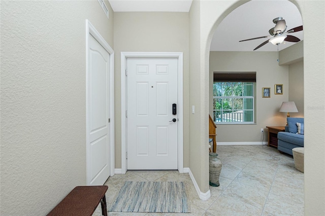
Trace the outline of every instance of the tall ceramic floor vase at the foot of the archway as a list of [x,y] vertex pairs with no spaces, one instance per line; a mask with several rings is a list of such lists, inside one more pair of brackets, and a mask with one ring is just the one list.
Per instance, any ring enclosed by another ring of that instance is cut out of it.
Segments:
[[222,163],[217,153],[209,153],[209,185],[218,187]]

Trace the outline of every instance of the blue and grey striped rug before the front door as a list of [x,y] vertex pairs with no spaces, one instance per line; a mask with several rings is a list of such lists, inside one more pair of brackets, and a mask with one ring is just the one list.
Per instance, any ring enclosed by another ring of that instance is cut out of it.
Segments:
[[125,182],[109,211],[190,212],[183,182]]

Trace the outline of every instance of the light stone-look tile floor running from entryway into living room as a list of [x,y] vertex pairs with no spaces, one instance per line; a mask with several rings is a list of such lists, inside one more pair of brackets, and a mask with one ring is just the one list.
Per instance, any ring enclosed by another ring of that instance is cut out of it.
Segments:
[[[295,169],[289,155],[267,146],[218,146],[222,160],[219,187],[211,198],[199,199],[188,173],[178,171],[127,171],[115,174],[105,185],[108,208],[125,181],[183,181],[190,199],[187,215],[304,215],[304,173]],[[108,215],[180,215],[182,213],[126,213]],[[101,215],[100,206],[93,215]]]

